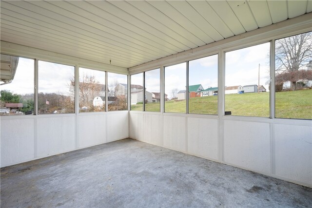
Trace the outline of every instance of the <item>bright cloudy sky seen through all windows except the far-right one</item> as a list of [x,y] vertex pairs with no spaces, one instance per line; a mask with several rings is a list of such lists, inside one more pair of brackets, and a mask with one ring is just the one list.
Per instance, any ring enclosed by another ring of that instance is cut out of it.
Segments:
[[[267,91],[269,86],[269,52],[270,43],[264,43],[244,49],[225,53],[225,86],[258,84],[258,67],[260,64],[260,85]],[[217,55],[189,61],[189,85],[201,84],[204,89],[217,87]],[[69,94],[69,84],[74,76],[74,66],[39,61],[39,93]],[[105,83],[103,72],[80,68],[79,73],[95,75],[100,83]],[[116,73],[108,74],[108,86],[127,83],[127,76]],[[145,73],[146,90],[159,92],[160,69]],[[132,84],[143,85],[143,74],[131,76]],[[186,89],[186,62],[165,67],[165,93],[171,97],[172,89]],[[34,92],[34,60],[19,59],[16,75],[10,84],[0,86],[0,90],[10,90],[16,94]]]

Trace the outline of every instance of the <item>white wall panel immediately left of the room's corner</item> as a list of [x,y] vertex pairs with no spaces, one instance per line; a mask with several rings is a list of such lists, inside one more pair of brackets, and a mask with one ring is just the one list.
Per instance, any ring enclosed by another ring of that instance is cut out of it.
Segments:
[[129,112],[108,113],[106,120],[106,141],[115,141],[129,137]]

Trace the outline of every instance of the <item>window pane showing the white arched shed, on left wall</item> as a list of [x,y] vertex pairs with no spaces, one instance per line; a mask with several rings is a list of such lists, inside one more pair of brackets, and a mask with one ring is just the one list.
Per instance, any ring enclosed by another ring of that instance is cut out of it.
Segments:
[[[75,82],[71,83],[75,87]],[[105,72],[79,68],[79,112],[105,111]]]

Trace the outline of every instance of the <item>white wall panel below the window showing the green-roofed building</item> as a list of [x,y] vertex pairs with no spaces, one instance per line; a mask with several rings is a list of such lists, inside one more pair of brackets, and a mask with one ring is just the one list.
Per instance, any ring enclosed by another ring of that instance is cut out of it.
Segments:
[[188,118],[188,152],[205,158],[218,159],[218,120]]

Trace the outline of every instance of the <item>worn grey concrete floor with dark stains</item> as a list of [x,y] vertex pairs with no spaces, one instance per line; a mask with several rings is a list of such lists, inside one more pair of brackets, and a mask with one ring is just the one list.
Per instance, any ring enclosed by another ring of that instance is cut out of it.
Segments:
[[132,139],[1,169],[1,208],[312,207],[312,189]]

